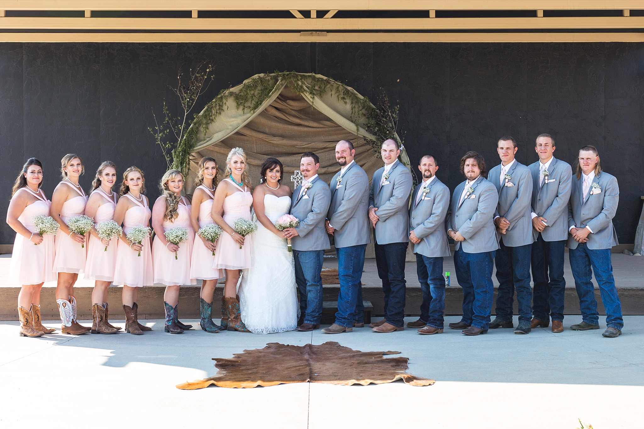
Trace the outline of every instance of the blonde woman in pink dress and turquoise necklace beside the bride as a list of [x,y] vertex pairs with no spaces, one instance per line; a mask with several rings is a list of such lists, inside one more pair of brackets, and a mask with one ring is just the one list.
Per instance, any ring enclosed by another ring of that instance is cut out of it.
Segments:
[[252,237],[242,237],[232,228],[234,221],[240,217],[251,220],[251,179],[246,170],[246,154],[242,148],[235,147],[229,152],[223,175],[225,179],[214,192],[211,212],[213,220],[223,229],[222,236],[217,241],[213,263],[213,268],[226,270],[223,289],[226,314],[222,314],[222,324],[226,325],[228,331],[251,332],[242,322],[237,282],[240,270],[251,268]]

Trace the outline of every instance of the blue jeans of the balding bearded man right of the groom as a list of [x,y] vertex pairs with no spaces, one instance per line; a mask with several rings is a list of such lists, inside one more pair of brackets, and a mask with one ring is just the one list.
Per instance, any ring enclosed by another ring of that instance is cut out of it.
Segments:
[[362,302],[362,271],[366,244],[336,248],[340,293],[337,295],[336,324],[352,327],[365,320]]

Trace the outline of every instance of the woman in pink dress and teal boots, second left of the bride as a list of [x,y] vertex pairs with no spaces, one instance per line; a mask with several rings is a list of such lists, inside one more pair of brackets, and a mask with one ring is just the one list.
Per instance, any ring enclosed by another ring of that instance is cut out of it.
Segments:
[[[193,208],[190,213],[190,223],[193,229],[207,224],[213,224],[213,199],[214,190],[217,186],[217,163],[213,158],[205,156],[199,161],[198,176],[194,185],[196,189],[193,194]],[[223,277],[223,269],[214,269],[215,246],[213,242],[202,237],[194,239],[193,259],[190,262],[190,277],[201,278],[201,294],[199,299],[199,311],[201,315],[200,325],[207,333],[218,333],[222,327],[213,322],[213,297],[214,287],[217,279]],[[223,307],[222,297],[222,307]]]

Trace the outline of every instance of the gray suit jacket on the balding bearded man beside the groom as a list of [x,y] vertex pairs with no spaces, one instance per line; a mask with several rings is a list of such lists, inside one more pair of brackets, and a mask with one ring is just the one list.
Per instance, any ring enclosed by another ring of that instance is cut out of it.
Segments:
[[336,228],[333,234],[336,248],[358,246],[371,242],[369,232],[369,177],[357,163],[346,169],[337,187],[337,172],[331,179],[331,206],[329,224]]

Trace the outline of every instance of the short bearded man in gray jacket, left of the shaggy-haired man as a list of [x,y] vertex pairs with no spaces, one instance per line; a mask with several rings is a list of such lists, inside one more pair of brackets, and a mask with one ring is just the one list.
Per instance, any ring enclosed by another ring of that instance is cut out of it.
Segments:
[[422,183],[412,193],[409,209],[409,241],[416,255],[416,271],[422,289],[421,318],[407,327],[421,328],[419,334],[443,332],[445,280],[442,277],[443,257],[450,256],[445,232],[445,217],[450,208],[450,188],[436,177],[439,169],[433,155],[424,155],[418,169]]

